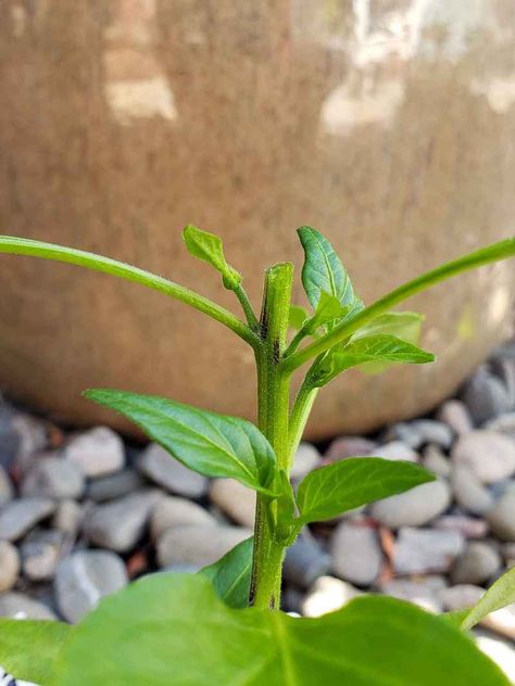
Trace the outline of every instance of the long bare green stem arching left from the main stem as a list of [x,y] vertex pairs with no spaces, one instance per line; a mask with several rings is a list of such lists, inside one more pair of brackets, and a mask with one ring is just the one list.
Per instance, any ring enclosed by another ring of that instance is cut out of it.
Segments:
[[147,288],[165,293],[186,305],[190,305],[212,319],[219,321],[219,323],[223,323],[225,327],[234,331],[252,347],[255,348],[259,344],[256,333],[251,331],[246,323],[240,321],[229,310],[221,307],[216,303],[213,303],[203,295],[175,283],[174,281],[159,277],[155,274],[146,271],[145,269],[133,267],[124,262],[88,253],[83,250],[64,247],[54,243],[45,243],[42,241],[34,241],[30,239],[20,239],[13,236],[0,236],[0,253],[30,255],[33,257],[41,257],[42,259],[54,259],[56,262],[87,267],[88,269],[93,269],[96,271],[111,274],[135,283],[141,283]]

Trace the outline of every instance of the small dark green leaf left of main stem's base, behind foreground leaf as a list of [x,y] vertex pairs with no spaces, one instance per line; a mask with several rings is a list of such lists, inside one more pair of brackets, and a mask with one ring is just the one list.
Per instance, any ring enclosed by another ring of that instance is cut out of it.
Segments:
[[253,548],[254,538],[251,536],[199,572],[211,581],[218,598],[231,608],[246,608],[249,605]]

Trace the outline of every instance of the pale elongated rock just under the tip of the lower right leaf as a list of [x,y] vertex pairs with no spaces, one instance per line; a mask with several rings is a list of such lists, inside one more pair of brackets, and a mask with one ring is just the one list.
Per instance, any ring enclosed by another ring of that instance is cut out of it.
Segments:
[[385,526],[423,526],[444,512],[451,504],[451,488],[439,480],[415,486],[411,491],[377,500],[372,517]]

